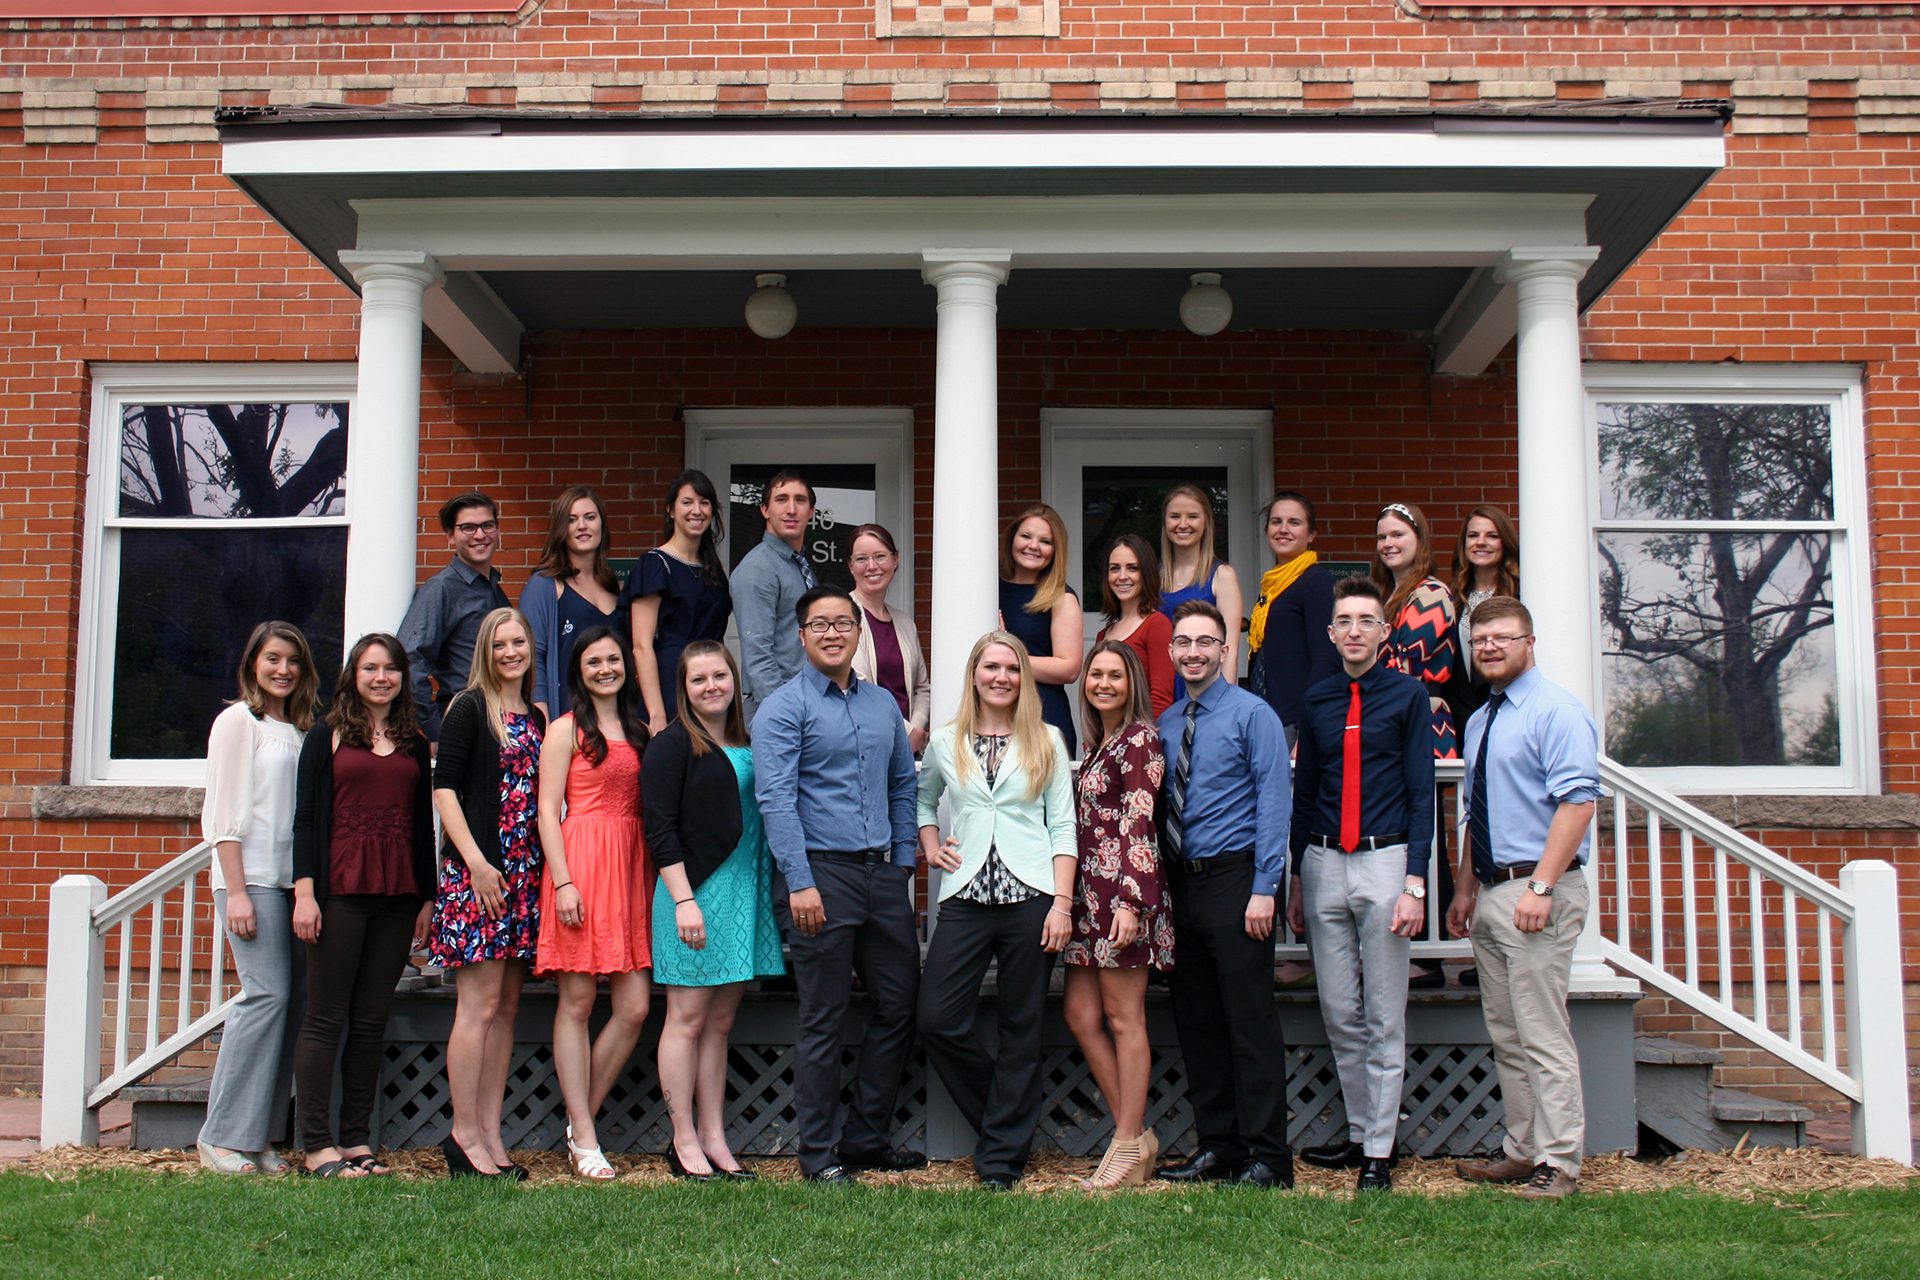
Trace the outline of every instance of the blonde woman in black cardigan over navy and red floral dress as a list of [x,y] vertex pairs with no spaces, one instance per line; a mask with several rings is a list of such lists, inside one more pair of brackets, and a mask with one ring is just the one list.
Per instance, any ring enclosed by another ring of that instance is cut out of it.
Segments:
[[440,894],[428,954],[453,971],[447,1174],[526,1178],[499,1132],[513,1015],[540,940],[540,741],[532,628],[516,608],[480,620],[467,687],[447,704],[434,770]]

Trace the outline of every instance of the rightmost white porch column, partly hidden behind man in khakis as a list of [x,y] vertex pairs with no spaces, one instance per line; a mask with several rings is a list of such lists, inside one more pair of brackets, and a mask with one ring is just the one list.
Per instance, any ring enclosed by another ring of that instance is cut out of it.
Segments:
[[[1571,689],[1599,716],[1594,670],[1592,520],[1586,447],[1586,397],[1580,388],[1580,278],[1599,257],[1592,246],[1511,249],[1498,278],[1511,284],[1519,307],[1521,434],[1521,595],[1534,616],[1534,652],[1553,683]],[[1632,990],[1599,958],[1599,841],[1592,842],[1588,885],[1594,904],[1572,954],[1572,990]]]

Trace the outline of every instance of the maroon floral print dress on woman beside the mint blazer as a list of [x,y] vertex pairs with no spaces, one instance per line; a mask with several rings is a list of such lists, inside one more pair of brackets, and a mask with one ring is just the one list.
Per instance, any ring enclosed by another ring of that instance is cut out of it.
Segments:
[[[1171,969],[1173,913],[1160,869],[1154,800],[1167,771],[1160,733],[1131,723],[1081,762],[1077,785],[1079,881],[1066,961],[1096,969]],[[1114,908],[1140,917],[1140,936],[1114,946]]]

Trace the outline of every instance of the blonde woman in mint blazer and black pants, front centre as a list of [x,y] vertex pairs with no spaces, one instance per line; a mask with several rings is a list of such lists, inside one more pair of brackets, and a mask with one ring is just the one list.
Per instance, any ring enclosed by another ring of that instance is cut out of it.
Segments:
[[[1066,741],[1041,720],[1027,647],[989,631],[966,664],[960,714],[933,731],[920,768],[920,854],[947,873],[920,979],[920,1036],[979,1134],[973,1173],[1008,1190],[1041,1119],[1046,983],[1073,931],[1073,777]],[[995,1054],[973,1029],[989,963],[998,965]]]

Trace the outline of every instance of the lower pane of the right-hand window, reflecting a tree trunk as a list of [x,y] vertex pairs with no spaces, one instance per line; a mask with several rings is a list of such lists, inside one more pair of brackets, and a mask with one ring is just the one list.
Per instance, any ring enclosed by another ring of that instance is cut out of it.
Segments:
[[1826,533],[1601,533],[1609,754],[1837,766],[1832,553]]

